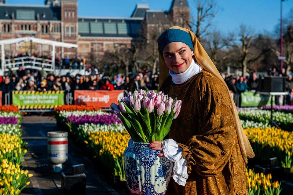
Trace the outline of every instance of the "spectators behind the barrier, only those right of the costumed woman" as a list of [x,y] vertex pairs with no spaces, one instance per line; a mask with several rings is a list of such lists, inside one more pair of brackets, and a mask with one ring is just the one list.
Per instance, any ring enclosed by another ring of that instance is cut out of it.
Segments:
[[[293,105],[293,79],[291,74],[286,74],[285,68],[281,72],[277,72],[276,68],[272,68],[267,72],[268,76],[279,76],[285,77],[285,90],[288,92],[288,95],[283,104]],[[229,90],[236,94],[236,97],[239,98],[239,105],[241,105],[241,93],[245,91],[257,91],[259,79],[255,72],[252,72],[250,77],[236,76],[233,75],[222,75],[225,80]],[[275,96],[275,104],[279,105],[279,96]]]

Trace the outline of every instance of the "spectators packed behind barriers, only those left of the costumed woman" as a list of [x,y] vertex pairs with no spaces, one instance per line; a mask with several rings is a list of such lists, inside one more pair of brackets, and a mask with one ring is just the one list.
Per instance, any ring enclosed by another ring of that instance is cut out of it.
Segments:
[[[3,80],[3,82],[2,82]],[[66,75],[48,74],[44,69],[41,71],[28,70],[23,66],[19,70],[9,72],[0,79],[2,93],[9,93],[13,90],[127,90],[135,89],[158,90],[159,75],[150,75],[148,71],[140,72],[133,78],[124,77],[122,74],[109,77],[107,75]]]

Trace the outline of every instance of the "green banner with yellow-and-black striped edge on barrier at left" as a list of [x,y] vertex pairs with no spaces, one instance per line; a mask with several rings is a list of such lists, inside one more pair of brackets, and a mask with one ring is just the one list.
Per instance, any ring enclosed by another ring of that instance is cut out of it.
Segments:
[[13,91],[12,103],[16,106],[64,105],[63,91]]

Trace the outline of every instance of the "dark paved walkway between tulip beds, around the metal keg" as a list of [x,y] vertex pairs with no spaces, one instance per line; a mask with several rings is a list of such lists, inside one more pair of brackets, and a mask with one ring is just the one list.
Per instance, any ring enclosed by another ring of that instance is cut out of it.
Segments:
[[[47,160],[47,132],[61,131],[56,126],[56,121],[50,116],[24,116],[23,139],[28,142],[29,152],[24,157],[24,169],[28,169],[34,176],[30,178],[31,184],[27,186],[21,195],[57,195],[61,194],[61,174],[49,171]],[[67,169],[71,165],[84,164],[86,174],[87,195],[126,195],[126,188],[113,189],[111,182],[106,181],[99,167],[91,161],[70,138],[68,139]]]

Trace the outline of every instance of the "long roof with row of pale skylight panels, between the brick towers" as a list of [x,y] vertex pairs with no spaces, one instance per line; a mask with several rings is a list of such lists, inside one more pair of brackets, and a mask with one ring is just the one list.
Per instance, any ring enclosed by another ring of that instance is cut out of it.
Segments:
[[132,37],[140,34],[143,18],[79,17],[81,37]]

